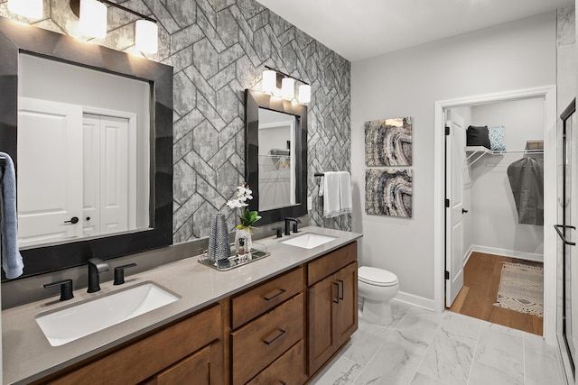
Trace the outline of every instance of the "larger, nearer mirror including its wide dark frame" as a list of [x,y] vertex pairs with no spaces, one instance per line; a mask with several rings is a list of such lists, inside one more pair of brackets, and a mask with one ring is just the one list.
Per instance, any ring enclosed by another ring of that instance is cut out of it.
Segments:
[[23,277],[172,244],[172,67],[6,18],[0,54]]

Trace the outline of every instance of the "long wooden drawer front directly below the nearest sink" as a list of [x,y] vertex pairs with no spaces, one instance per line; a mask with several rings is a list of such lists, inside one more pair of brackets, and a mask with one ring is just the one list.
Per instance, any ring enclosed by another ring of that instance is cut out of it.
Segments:
[[107,353],[50,383],[128,384],[153,376],[222,336],[220,305]]

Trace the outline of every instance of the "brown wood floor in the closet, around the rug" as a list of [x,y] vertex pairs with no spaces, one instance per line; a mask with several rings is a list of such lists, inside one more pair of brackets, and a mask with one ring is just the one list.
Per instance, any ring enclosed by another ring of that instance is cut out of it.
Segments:
[[463,288],[448,310],[535,335],[542,335],[544,318],[493,306],[498,298],[501,262],[543,266],[542,262],[472,252],[464,268]]

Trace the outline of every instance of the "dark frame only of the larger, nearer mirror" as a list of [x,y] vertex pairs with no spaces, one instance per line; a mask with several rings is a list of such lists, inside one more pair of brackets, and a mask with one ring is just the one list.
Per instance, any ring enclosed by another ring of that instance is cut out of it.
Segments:
[[[0,151],[13,158],[16,175],[20,52],[148,82],[151,127],[154,127],[151,133],[151,228],[22,250],[24,272],[21,277],[79,266],[90,258],[106,260],[172,244],[172,67],[0,17]],[[50,169],[50,160],[46,160],[46,167]],[[4,271],[2,280],[5,280]]]

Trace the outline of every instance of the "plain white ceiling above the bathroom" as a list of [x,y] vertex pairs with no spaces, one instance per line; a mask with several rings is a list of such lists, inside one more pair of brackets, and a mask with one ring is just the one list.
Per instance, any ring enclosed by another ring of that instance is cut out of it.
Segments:
[[574,0],[257,1],[350,61],[574,3]]

